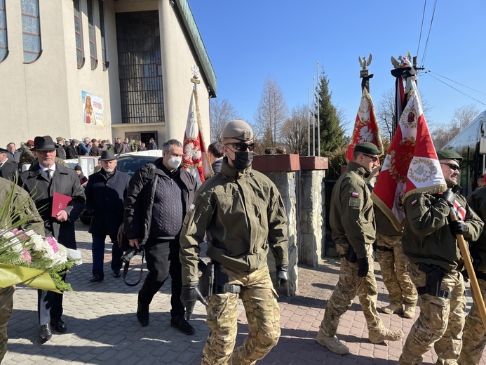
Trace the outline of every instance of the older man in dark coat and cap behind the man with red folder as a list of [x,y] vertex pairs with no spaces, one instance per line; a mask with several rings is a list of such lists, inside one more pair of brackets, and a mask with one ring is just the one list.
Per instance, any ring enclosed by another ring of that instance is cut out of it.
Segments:
[[130,175],[116,170],[113,151],[101,152],[101,170],[90,175],[86,188],[86,209],[93,215],[88,232],[93,236],[93,278],[92,283],[103,281],[104,239],[112,240],[112,270],[114,277],[120,277],[123,251],[116,241],[116,234],[123,222],[123,197]]

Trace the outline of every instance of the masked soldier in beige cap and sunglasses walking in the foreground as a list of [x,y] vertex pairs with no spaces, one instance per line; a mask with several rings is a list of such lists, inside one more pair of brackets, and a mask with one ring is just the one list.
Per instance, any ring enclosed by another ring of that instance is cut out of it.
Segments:
[[[199,244],[212,237],[207,255],[227,279],[208,298],[206,319],[211,329],[203,365],[255,364],[280,337],[280,309],[266,255],[276,258],[278,284],[287,281],[288,237],[283,201],[274,183],[251,168],[253,132],[242,120],[222,132],[224,157],[219,174],[196,192],[182,226],[181,300],[193,307],[197,298]],[[238,298],[248,319],[248,337],[234,350]]]

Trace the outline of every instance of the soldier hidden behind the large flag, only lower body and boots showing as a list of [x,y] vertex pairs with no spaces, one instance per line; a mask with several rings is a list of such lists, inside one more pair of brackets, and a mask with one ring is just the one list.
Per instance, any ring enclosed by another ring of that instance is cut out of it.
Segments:
[[418,296],[407,271],[407,257],[403,254],[403,231],[396,230],[386,214],[377,206],[374,206],[374,215],[377,221],[377,261],[390,301],[389,305],[382,308],[382,312],[403,313],[403,317],[413,318]]

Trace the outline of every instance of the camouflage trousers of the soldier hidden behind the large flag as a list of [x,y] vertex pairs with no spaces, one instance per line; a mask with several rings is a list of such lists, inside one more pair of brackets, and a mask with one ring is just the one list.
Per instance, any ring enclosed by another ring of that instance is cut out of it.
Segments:
[[417,305],[417,289],[407,271],[407,256],[403,254],[402,237],[377,234],[378,246],[392,251],[377,249],[377,261],[382,270],[383,281],[388,289],[390,304]]

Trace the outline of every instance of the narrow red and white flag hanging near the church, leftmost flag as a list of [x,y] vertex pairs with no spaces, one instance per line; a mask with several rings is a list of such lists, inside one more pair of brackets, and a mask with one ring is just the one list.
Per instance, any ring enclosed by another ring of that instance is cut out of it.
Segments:
[[206,146],[201,126],[201,116],[197,105],[197,91],[194,89],[189,103],[187,126],[184,133],[184,156],[182,166],[196,178],[198,185],[204,183],[205,168],[208,166]]

